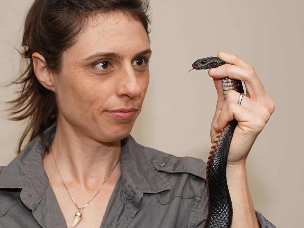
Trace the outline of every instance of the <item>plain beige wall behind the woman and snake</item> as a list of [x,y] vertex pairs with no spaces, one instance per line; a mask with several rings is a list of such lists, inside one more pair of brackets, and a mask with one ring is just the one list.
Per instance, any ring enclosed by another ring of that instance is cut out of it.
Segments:
[[[32,0],[1,0],[1,85],[18,76]],[[254,208],[277,227],[302,227],[303,1],[151,0],[150,83],[131,135],[148,147],[207,160],[217,94],[208,71],[187,71],[218,51],[252,65],[276,109],[247,158]],[[16,88],[1,87],[0,165],[15,156],[24,123],[5,118]]]

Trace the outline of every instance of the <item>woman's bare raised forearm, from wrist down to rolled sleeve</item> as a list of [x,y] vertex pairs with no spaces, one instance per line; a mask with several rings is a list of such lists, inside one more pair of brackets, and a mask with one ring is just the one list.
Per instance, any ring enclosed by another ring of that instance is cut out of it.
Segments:
[[227,184],[233,207],[231,228],[258,228],[251,200],[245,164],[227,164]]

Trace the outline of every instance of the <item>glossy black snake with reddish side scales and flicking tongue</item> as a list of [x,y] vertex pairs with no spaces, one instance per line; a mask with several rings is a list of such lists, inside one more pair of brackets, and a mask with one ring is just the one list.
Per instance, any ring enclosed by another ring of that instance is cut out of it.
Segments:
[[[192,67],[203,70],[227,64],[218,57],[206,57],[196,60]],[[190,71],[192,71],[191,69]],[[189,72],[189,71],[188,71]],[[229,77],[222,78],[223,93],[226,99],[229,90],[244,93],[242,81]],[[204,228],[230,228],[232,223],[232,202],[227,185],[227,158],[237,120],[229,121],[216,135],[210,149],[206,165],[206,185],[209,200],[208,214]]]

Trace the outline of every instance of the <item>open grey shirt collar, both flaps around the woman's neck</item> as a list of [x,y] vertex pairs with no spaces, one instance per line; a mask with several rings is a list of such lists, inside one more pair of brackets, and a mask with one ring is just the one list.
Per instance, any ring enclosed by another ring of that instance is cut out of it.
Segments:
[[[44,131],[48,142],[54,140],[57,122]],[[136,143],[129,134],[121,140],[120,167],[122,189],[136,206],[143,193],[157,193],[171,189],[168,181],[159,175],[153,161],[147,159],[146,147]],[[34,138],[2,171],[1,188],[22,188],[20,198],[32,209],[44,194],[49,179],[43,167],[45,147],[40,136]]]

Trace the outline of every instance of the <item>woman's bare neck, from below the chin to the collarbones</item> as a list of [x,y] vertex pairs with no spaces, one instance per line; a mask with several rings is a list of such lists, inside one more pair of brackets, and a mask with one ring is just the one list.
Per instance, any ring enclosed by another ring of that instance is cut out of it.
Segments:
[[[52,178],[62,183],[52,151],[65,184],[77,183],[79,188],[92,189],[101,185],[119,160],[121,143],[120,140],[110,143],[93,140],[58,120],[50,153],[45,154],[43,163],[51,170]],[[107,182],[112,176],[119,175],[118,163]]]

